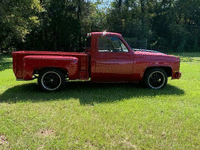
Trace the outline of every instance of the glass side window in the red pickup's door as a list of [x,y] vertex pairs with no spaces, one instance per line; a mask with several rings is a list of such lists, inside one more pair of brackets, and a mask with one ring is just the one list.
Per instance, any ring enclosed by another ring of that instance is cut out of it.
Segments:
[[99,52],[128,52],[127,47],[116,36],[104,36],[98,40]]

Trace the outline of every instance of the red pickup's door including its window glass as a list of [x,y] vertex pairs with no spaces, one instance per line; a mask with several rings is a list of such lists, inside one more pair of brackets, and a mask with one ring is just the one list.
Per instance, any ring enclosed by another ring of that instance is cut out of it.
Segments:
[[98,39],[95,58],[95,81],[132,81],[133,55],[117,36],[103,36]]

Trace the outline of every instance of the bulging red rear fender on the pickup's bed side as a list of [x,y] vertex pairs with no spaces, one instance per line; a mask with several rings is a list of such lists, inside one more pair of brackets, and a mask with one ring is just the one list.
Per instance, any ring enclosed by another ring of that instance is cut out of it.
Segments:
[[68,71],[69,79],[77,79],[79,73],[78,58],[72,56],[29,55],[23,58],[23,79],[32,80],[34,70],[59,68]]

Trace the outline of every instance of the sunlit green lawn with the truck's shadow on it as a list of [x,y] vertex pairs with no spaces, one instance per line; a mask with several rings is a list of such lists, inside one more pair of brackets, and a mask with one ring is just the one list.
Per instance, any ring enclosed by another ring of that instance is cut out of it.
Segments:
[[[178,55],[178,54],[177,54]],[[0,55],[0,149],[200,149],[200,53],[162,90],[68,83],[41,92]]]

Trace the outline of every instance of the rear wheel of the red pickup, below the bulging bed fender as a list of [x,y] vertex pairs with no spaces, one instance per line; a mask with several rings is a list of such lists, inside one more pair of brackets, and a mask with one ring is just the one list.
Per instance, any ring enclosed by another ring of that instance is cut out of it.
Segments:
[[38,85],[44,91],[58,91],[64,84],[65,76],[57,69],[46,69],[39,74]]

